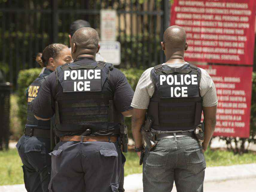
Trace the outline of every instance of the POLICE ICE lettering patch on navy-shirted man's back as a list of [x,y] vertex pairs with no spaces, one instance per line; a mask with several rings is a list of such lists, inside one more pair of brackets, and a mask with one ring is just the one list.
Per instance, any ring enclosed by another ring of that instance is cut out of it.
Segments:
[[68,86],[64,86],[64,92],[100,91],[101,70],[66,70],[64,71],[64,84],[67,82]]

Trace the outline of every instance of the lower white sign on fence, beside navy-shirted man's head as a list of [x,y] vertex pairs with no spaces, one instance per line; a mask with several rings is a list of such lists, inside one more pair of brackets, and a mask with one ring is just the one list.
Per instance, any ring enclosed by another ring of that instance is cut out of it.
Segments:
[[121,63],[121,46],[118,41],[100,41],[100,55],[113,65]]

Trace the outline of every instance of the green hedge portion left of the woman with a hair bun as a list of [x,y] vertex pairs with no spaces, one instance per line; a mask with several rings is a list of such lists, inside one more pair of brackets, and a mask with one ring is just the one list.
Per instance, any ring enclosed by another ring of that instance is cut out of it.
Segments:
[[18,76],[18,117],[21,122],[22,129],[25,129],[26,119],[27,119],[27,99],[26,99],[26,89],[28,86],[38,77],[42,68],[31,68],[19,71]]

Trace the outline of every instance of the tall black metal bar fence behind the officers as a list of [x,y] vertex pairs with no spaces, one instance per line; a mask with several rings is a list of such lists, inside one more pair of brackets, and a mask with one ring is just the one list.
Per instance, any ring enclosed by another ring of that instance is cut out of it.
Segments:
[[[77,19],[100,32],[100,10],[117,10],[120,68],[162,63],[160,42],[169,25],[169,0],[0,0],[0,69],[16,84],[19,70],[39,67],[35,55],[51,43],[69,45]],[[99,33],[100,34],[100,33]]]

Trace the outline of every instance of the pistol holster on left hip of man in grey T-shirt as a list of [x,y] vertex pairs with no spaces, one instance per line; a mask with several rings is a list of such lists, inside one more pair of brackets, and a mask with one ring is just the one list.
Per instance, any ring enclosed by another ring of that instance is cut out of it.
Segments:
[[155,134],[151,132],[151,126],[154,120],[152,117],[147,117],[145,124],[141,126],[141,134],[144,138],[145,143],[147,144],[147,149],[150,151],[153,147],[156,146],[157,140],[155,139]]

